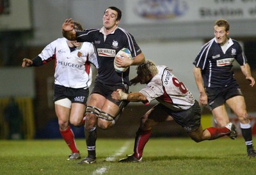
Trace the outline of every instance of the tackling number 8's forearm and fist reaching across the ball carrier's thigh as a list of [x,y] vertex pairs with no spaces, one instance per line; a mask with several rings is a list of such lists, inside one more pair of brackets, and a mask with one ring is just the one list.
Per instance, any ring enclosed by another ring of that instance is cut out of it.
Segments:
[[128,100],[130,102],[148,102],[142,93],[124,93],[121,89],[113,91],[111,97],[115,100]]

